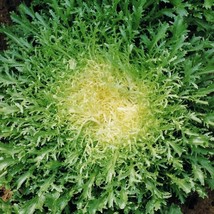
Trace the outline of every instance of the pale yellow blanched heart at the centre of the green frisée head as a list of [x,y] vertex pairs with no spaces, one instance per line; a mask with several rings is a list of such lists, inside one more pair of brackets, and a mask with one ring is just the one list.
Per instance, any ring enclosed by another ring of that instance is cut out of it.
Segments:
[[[71,62],[71,61],[70,61]],[[126,144],[144,139],[157,120],[149,87],[110,63],[88,60],[83,71],[63,81],[56,94],[59,115],[70,129],[98,143]]]

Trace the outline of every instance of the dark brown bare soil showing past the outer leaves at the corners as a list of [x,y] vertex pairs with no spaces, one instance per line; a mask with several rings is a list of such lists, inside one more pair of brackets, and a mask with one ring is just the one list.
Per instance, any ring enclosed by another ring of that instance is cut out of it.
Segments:
[[[21,2],[29,4],[30,0],[0,0],[1,24],[11,24],[10,11],[15,10]],[[4,35],[0,34],[0,51],[6,47]],[[199,198],[196,194],[191,195],[181,209],[183,214],[214,214],[214,191],[209,191],[208,198],[205,199]]]

